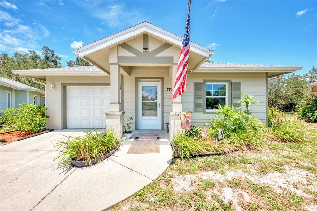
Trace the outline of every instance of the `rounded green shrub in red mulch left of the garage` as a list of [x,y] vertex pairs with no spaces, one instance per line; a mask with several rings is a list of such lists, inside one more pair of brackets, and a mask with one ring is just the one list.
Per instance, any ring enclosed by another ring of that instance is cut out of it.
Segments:
[[42,131],[42,127],[46,126],[46,119],[49,118],[45,115],[47,108],[24,102],[19,104],[19,106],[15,116],[14,127],[23,131]]

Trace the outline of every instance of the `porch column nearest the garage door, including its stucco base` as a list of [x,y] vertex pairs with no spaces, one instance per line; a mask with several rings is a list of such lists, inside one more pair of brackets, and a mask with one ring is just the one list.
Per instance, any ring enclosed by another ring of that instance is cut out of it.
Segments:
[[123,132],[124,111],[121,108],[121,73],[118,65],[118,47],[109,49],[110,64],[110,111],[105,112],[106,130],[112,129],[121,137]]

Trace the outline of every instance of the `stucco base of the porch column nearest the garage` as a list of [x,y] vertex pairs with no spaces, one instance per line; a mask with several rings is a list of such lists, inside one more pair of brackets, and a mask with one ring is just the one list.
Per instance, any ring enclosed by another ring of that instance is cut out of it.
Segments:
[[117,133],[117,136],[120,137],[123,132],[123,122],[121,119],[124,119],[124,111],[107,111],[106,115],[106,130],[112,129],[113,133]]

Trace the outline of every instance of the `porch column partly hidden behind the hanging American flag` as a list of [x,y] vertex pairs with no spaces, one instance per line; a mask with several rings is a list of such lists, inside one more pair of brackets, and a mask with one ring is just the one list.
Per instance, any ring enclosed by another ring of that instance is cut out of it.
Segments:
[[[175,56],[174,56],[174,62],[175,62]],[[174,63],[173,66],[171,66],[172,71],[172,87],[174,90],[174,82],[176,78],[176,71],[177,71],[177,63]],[[170,140],[173,140],[174,135],[177,135],[178,131],[182,131],[182,124],[180,121],[180,118],[178,116],[178,112],[182,111],[182,101],[181,96],[178,96],[172,101],[172,111],[170,111]]]

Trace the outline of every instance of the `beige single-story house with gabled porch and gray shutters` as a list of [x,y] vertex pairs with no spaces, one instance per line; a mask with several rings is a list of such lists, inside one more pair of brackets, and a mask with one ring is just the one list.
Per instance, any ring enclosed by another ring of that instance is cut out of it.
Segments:
[[122,133],[121,119],[133,117],[133,130],[165,130],[169,122],[172,138],[181,127],[179,111],[191,111],[191,123],[203,127],[218,103],[240,107],[240,93],[255,96],[260,103],[251,112],[267,123],[268,79],[302,68],[206,63],[215,51],[190,42],[187,91],[172,102],[182,41],[142,22],[73,50],[93,66],[13,72],[46,81],[49,128],[106,127]]

